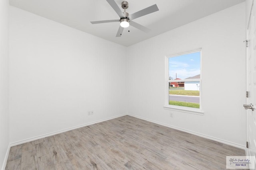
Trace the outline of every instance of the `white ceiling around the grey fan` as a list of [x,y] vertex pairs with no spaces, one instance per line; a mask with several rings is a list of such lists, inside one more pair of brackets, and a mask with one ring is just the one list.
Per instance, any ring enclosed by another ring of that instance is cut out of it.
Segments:
[[[123,11],[121,8],[123,0],[115,1]],[[12,6],[124,46],[149,39],[245,0],[126,1],[129,2],[129,7],[126,10],[129,14],[157,4],[159,11],[133,20],[150,28],[149,33],[130,26],[124,29],[122,37],[116,37],[119,22],[92,25],[90,21],[120,19],[106,0],[9,0]]]

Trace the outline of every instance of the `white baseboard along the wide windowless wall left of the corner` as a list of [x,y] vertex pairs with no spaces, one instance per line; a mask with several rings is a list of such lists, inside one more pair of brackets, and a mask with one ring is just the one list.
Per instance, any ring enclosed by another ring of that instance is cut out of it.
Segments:
[[98,121],[93,121],[93,122],[90,122],[90,123],[85,123],[85,124],[82,124],[82,125],[70,127],[70,128],[67,128],[67,129],[63,129],[63,130],[60,130],[60,131],[56,131],[56,132],[52,132],[52,133],[47,133],[47,134],[40,135],[40,136],[37,136],[37,137],[32,137],[32,138],[29,138],[29,139],[24,139],[22,141],[17,141],[17,142],[14,142],[14,143],[10,143],[10,147],[13,147],[13,146],[16,146],[16,145],[20,145],[20,144],[23,144],[23,143],[27,143],[27,142],[30,142],[30,141],[35,141],[37,139],[42,139],[42,138],[49,137],[49,136],[52,136],[52,135],[56,135],[56,134],[59,134],[59,133],[63,133],[63,132],[66,132],[66,131],[71,131],[71,130],[74,130],[74,129],[78,129],[80,127],[85,127],[85,126],[88,126],[88,125],[93,125],[95,123],[100,123],[102,121],[107,121],[107,120],[115,119],[117,117],[122,117],[122,116],[125,116],[125,115],[127,115],[127,114],[117,115],[117,116],[109,117],[107,119],[101,119],[101,120],[98,120]]

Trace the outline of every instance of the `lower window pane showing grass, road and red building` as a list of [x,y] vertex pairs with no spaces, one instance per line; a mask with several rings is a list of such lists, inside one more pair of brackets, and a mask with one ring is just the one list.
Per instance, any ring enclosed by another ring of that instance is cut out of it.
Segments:
[[169,82],[169,105],[200,108],[200,81],[183,82],[183,87],[173,83]]

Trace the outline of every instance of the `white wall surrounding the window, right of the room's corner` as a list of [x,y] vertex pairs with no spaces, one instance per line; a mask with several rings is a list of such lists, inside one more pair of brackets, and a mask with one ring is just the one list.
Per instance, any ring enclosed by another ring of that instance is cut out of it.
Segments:
[[[128,112],[244,147],[245,83],[236,83],[245,80],[244,25],[242,3],[128,47]],[[204,115],[163,109],[165,55],[200,47]]]

